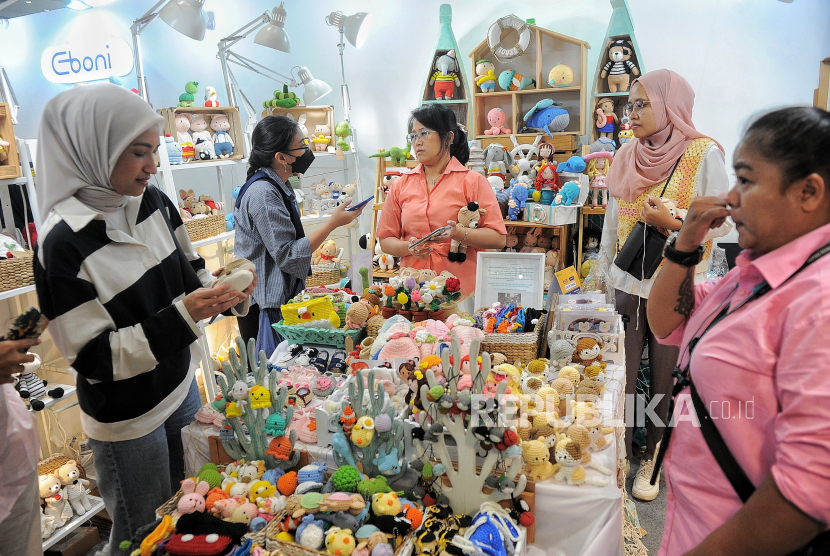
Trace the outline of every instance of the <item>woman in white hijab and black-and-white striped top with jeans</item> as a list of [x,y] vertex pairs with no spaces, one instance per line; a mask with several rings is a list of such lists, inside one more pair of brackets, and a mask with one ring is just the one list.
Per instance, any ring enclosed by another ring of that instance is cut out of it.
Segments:
[[254,286],[211,289],[177,207],[149,185],[162,125],[137,95],[92,85],[52,99],[38,135],[35,284],[78,373],[113,553],[184,478],[181,429],[201,405],[196,323],[244,314]]

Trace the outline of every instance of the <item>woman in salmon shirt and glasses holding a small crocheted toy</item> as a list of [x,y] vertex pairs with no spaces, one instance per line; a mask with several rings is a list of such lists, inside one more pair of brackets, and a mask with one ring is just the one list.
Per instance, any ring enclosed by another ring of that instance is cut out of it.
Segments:
[[[487,179],[464,165],[470,158],[467,135],[446,106],[428,104],[409,119],[407,142],[420,164],[398,179],[383,205],[377,237],[384,253],[401,257],[401,266],[448,270],[461,280],[464,295],[475,292],[477,253],[501,249],[507,230]],[[486,211],[476,228],[456,223],[458,211],[476,202]],[[433,230],[453,228],[430,244],[412,243]],[[467,245],[463,263],[450,262],[450,240]]]

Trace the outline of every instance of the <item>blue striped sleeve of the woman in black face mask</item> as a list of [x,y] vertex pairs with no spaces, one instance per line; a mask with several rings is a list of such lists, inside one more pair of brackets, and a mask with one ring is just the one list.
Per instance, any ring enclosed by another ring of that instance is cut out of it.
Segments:
[[243,203],[252,227],[259,232],[277,267],[305,280],[311,271],[311,244],[307,237],[295,239],[291,214],[279,194],[267,182],[256,182],[248,189]]

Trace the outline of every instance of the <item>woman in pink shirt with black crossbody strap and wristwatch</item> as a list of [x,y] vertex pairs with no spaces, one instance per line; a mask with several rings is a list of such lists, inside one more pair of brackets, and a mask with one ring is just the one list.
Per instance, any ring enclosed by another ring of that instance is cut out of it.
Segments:
[[[815,539],[830,524],[828,152],[830,113],[762,116],[735,151],[735,187],[695,198],[666,242],[648,319],[680,346],[682,378],[660,448],[661,555],[830,553]],[[728,216],[737,266],[694,286],[703,239]]]

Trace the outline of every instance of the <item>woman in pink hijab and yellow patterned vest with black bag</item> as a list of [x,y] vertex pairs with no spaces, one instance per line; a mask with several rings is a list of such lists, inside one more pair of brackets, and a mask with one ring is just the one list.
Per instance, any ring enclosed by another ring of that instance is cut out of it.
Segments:
[[[688,209],[697,195],[718,196],[729,189],[722,147],[695,129],[692,108],[695,93],[689,82],[670,70],[656,70],[642,75],[631,85],[625,114],[634,132],[632,141],[623,145],[614,157],[608,174],[611,200],[602,229],[602,250],[614,261],[637,222],[662,229],[679,230],[682,220],[676,209]],[[681,212],[680,214],[685,214]],[[712,238],[725,235],[729,225],[712,230],[707,236],[703,260],[695,269],[695,282],[702,281],[709,268]],[[654,278],[638,279],[615,264],[611,279],[616,289],[617,310],[630,318],[626,325],[626,400],[632,403],[636,393],[640,358],[648,339],[649,397],[648,409],[662,421],[668,410],[672,387],[672,370],[677,362],[676,347],[661,345],[646,319],[648,296]],[[631,396],[628,396],[631,394]],[[642,413],[641,411],[637,413]],[[635,423],[643,426],[643,415],[635,413]],[[646,419],[646,455],[637,471],[632,494],[641,500],[653,500],[660,481],[649,483],[654,455],[662,435],[661,423]],[[626,453],[632,452],[634,428],[626,429]]]

